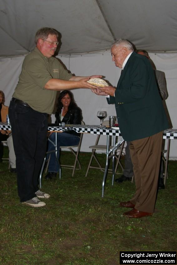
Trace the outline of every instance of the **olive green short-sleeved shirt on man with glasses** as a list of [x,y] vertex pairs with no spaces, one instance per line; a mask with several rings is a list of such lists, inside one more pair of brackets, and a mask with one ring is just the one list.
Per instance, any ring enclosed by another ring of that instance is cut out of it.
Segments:
[[63,68],[54,57],[45,57],[35,47],[22,64],[22,71],[13,98],[20,99],[38,112],[51,114],[57,91],[45,89],[45,84],[52,78],[69,80],[72,74]]

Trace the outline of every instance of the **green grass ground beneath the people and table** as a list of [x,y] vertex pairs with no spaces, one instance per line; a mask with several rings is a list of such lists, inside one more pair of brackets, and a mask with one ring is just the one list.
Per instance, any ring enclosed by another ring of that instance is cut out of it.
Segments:
[[[128,219],[119,202],[131,198],[134,183],[112,187],[108,174],[101,198],[103,172],[90,169],[85,177],[90,156],[80,154],[82,170],[74,177],[63,169],[61,180],[58,175],[51,181],[43,178],[42,190],[51,197],[40,208],[19,202],[16,175],[8,163],[0,164],[1,265],[118,265],[119,250],[176,251],[177,161],[169,162],[155,214]],[[104,155],[100,158],[105,161]],[[71,160],[71,154],[62,152],[61,159]]]

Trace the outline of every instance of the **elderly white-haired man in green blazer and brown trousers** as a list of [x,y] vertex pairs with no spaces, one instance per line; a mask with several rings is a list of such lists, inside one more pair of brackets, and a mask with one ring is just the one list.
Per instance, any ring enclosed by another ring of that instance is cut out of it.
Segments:
[[136,192],[121,207],[133,208],[124,213],[140,218],[154,213],[160,167],[163,130],[169,128],[162,100],[150,61],[134,52],[124,39],[111,46],[112,60],[122,68],[117,89],[93,89],[108,95],[108,104],[115,104],[122,137],[130,142]]

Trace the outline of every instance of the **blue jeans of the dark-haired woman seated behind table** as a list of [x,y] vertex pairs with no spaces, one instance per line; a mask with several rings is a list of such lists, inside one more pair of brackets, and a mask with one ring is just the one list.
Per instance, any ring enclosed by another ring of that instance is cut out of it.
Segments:
[[[49,136],[50,140],[55,143],[55,133],[53,132]],[[69,134],[67,132],[58,132],[57,133],[57,157],[59,159],[60,155],[60,146],[71,146],[71,145],[78,145],[80,141],[79,136],[75,136],[73,134]],[[47,151],[52,151],[54,150],[55,147],[54,145],[48,141],[48,150]],[[49,154],[47,154],[47,159],[49,158]],[[49,166],[48,166],[48,172],[58,172],[58,163],[56,160],[55,152],[50,154],[50,161],[49,161]]]

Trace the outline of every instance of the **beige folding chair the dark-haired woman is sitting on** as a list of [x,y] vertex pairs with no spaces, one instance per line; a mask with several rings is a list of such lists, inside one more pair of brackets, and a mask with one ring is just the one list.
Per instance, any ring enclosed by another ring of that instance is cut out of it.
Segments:
[[[85,123],[83,121],[81,121],[81,124],[84,125]],[[69,149],[73,155],[75,156],[75,161],[74,161],[74,165],[64,165],[64,164],[61,164],[61,167],[62,168],[68,168],[68,169],[72,169],[72,177],[74,176],[74,172],[75,170],[81,170],[81,164],[79,162],[79,159],[78,159],[78,156],[79,156],[79,151],[81,149],[81,142],[82,142],[82,137],[83,137],[83,133],[80,134],[80,141],[78,143],[78,145],[73,145],[73,146],[60,146],[60,149],[62,148],[67,148]],[[74,147],[77,147],[77,151],[74,151]],[[46,170],[45,170],[45,173],[47,173],[47,169],[48,169],[48,165],[49,165],[49,161],[50,161],[50,155],[49,155],[49,159],[47,161],[47,166],[46,166]],[[78,167],[76,167],[78,163]]]

